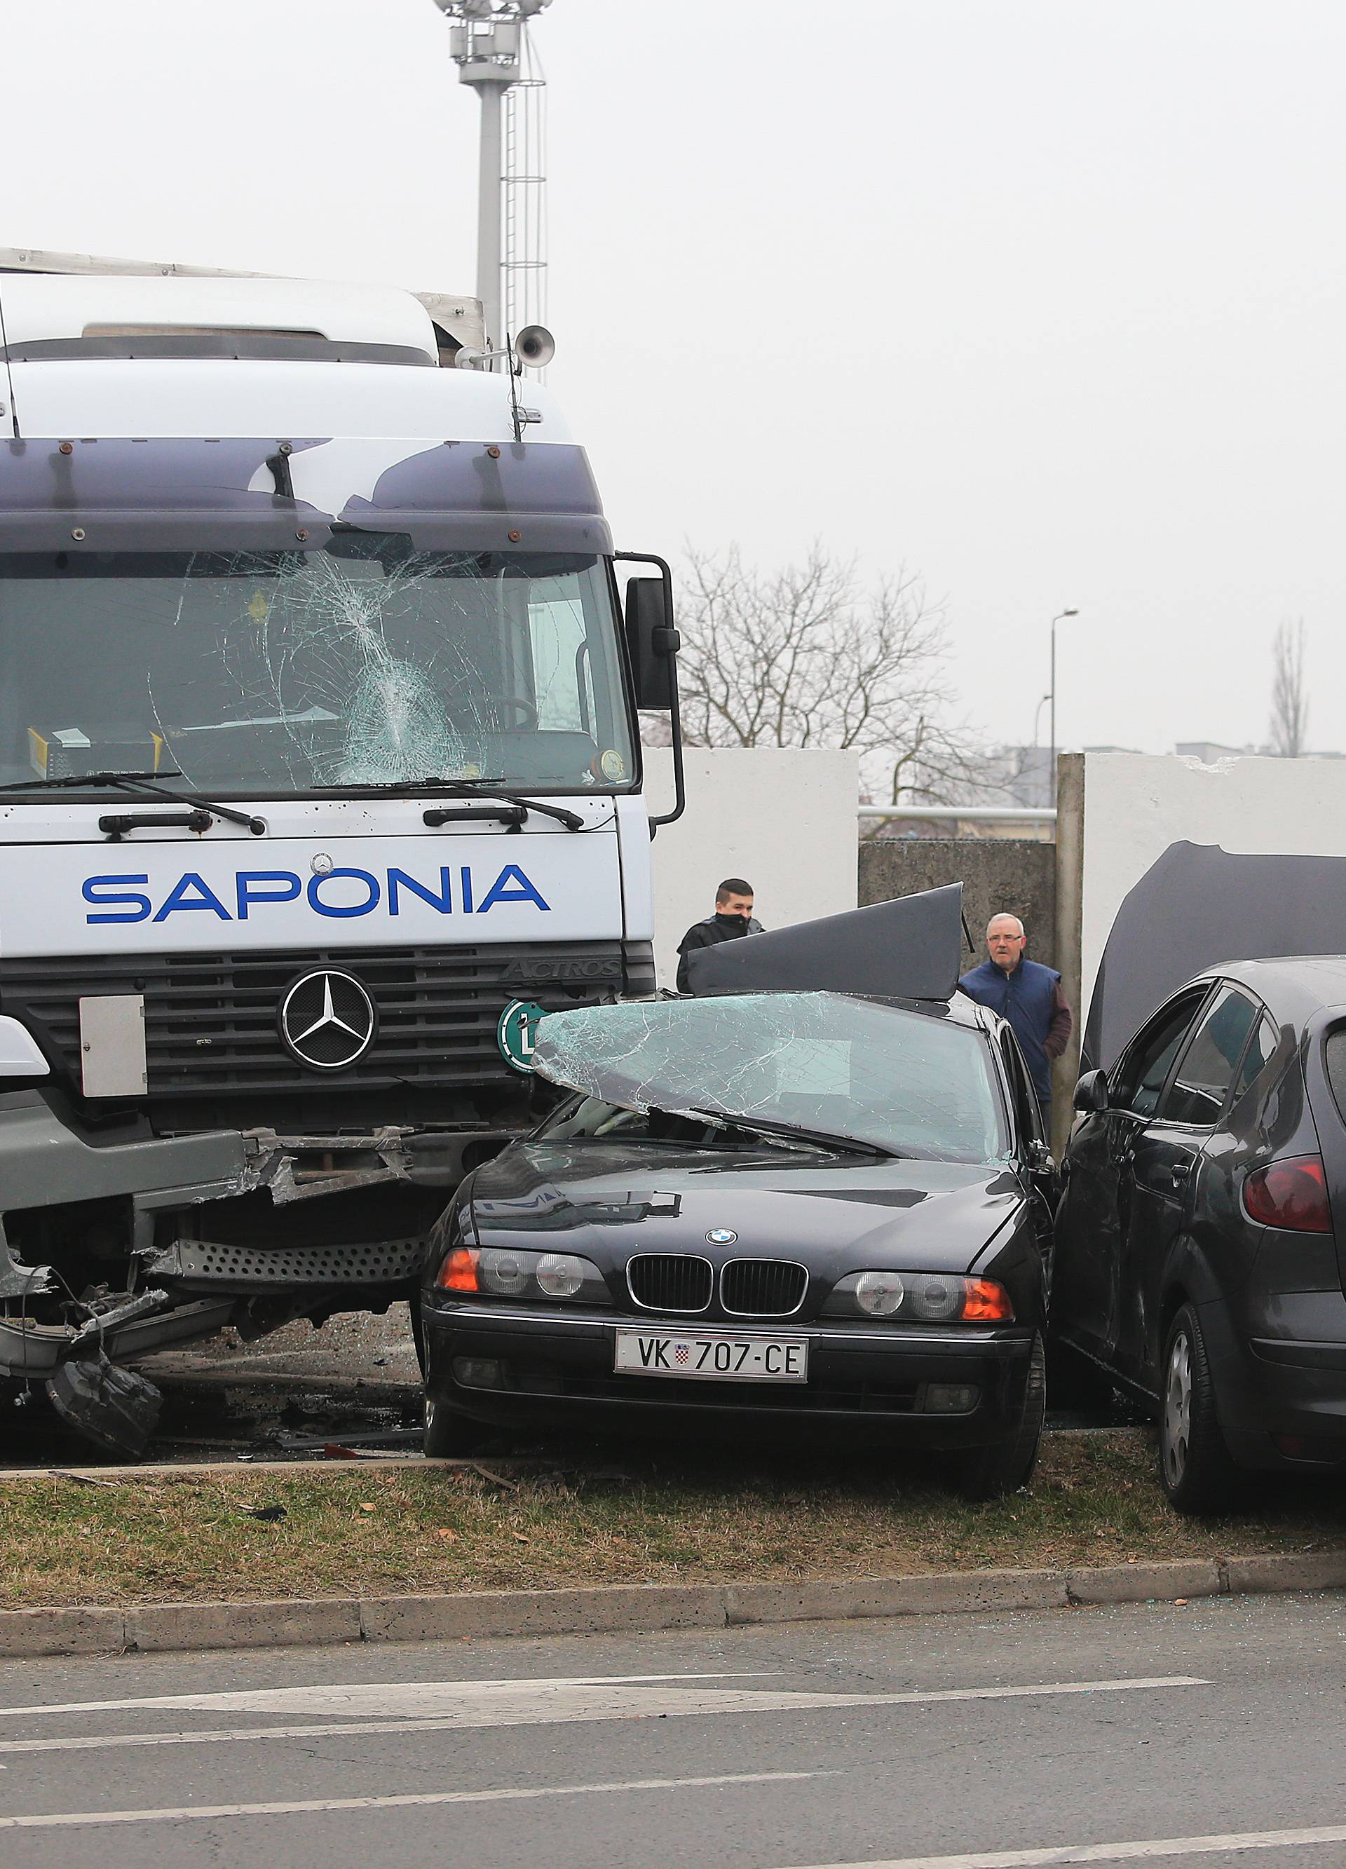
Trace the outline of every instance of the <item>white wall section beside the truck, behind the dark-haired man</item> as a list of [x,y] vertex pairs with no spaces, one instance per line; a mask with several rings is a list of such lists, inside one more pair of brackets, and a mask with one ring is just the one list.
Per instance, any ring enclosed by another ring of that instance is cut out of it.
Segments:
[[[645,748],[651,811],[673,804],[673,755]],[[798,748],[688,748],[688,807],[654,839],[654,961],[662,987],[677,944],[714,912],[716,884],[744,877],[768,929],[856,906],[854,753]]]

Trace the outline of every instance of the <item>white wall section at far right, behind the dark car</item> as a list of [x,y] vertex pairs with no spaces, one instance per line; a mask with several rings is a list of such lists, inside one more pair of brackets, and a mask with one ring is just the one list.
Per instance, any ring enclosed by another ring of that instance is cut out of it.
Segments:
[[1127,890],[1183,839],[1241,856],[1346,856],[1346,761],[1221,759],[1204,766],[1172,755],[1084,753],[1084,1004]]

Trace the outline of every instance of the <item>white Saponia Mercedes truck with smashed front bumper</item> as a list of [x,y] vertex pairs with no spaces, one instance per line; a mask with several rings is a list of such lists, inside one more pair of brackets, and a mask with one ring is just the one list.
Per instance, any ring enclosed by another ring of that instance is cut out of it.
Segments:
[[667,566],[475,310],[0,252],[0,1392],[108,1447],[406,1295],[540,1013],[654,987]]

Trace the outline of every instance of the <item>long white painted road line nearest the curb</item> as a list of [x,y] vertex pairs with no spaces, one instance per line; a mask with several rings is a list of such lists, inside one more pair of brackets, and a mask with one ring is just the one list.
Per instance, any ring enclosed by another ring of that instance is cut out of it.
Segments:
[[[437,1714],[428,1714],[419,1719],[327,1719],[310,1725],[286,1725],[286,1727],[222,1727],[213,1731],[172,1731],[172,1733],[103,1733],[103,1734],[79,1734],[73,1738],[50,1738],[50,1740],[0,1740],[0,1753],[45,1753],[45,1751],[101,1751],[112,1746],[211,1746],[221,1742],[256,1742],[256,1740],[310,1740],[325,1738],[329,1734],[342,1736],[346,1733],[445,1733],[445,1731],[464,1731],[464,1729],[486,1729],[486,1727],[525,1727],[525,1725],[559,1725],[563,1721],[594,1721],[594,1719],[667,1719],[667,1718],[694,1718],[707,1714],[789,1714],[789,1712],[813,1712],[817,1708],[832,1706],[931,1706],[946,1701],[1019,1701],[1019,1699],[1041,1699],[1062,1693],[1129,1693],[1135,1690],[1165,1690],[1165,1688],[1208,1688],[1208,1680],[1200,1680],[1193,1675],[1159,1675],[1142,1680],[1054,1680],[1041,1686],[1026,1688],[940,1688],[931,1691],[914,1693],[789,1693],[785,1690],[744,1690],[744,1688],[645,1688],[645,1686],[626,1686],[624,1682],[602,1682],[594,1686],[557,1686],[553,1682],[507,1682],[492,1684],[495,1688],[510,1688],[514,1691],[497,1691],[490,1697],[471,1693],[465,1703],[452,1706],[452,1691],[460,1688],[462,1682],[434,1682],[422,1686],[421,1693],[434,1691],[434,1705],[441,1708]],[[473,1684],[477,1686],[477,1684]],[[525,1691],[518,1691],[525,1690]],[[540,1690],[540,1691],[538,1691]],[[280,1690],[286,1695],[312,1691],[316,1695],[327,1693],[327,1690]],[[376,1693],[378,1690],[370,1690]],[[165,1701],[136,1701],[129,1706],[136,1708],[155,1708],[155,1706],[174,1706],[181,1708],[183,1701],[193,1708],[213,1708],[224,1701],[230,1708],[237,1701],[264,1701],[265,1695],[194,1695],[178,1697],[168,1703]],[[97,1710],[105,1703],[97,1703]],[[290,1703],[286,1701],[286,1706]],[[120,1703],[118,1710],[125,1710],[127,1703]],[[45,1712],[73,1712],[75,1708],[43,1708]],[[80,1712],[86,1708],[79,1708]],[[264,1712],[269,1708],[254,1706],[254,1712]],[[340,1708],[335,1708],[340,1712]],[[9,1714],[21,1712],[21,1708],[9,1708]]]

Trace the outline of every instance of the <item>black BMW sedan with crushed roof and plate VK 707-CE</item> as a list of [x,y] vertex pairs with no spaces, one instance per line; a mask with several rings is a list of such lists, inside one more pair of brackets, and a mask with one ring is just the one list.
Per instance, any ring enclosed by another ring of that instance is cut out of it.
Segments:
[[1019,1049],[839,992],[553,1013],[570,1095],[477,1168],[422,1291],[426,1452],[482,1424],[750,1430],[1032,1473],[1052,1168]]

